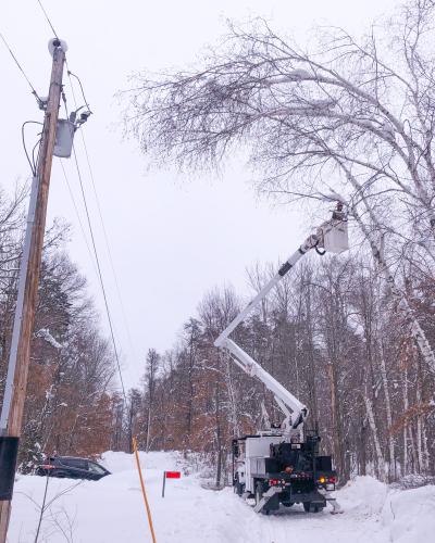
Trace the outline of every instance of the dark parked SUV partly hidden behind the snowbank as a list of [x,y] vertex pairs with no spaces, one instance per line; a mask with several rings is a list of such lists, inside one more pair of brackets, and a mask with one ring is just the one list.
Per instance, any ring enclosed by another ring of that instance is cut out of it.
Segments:
[[110,475],[105,468],[94,460],[75,458],[73,456],[49,456],[40,464],[36,475],[60,477],[69,479],[91,479],[98,481],[101,477]]

